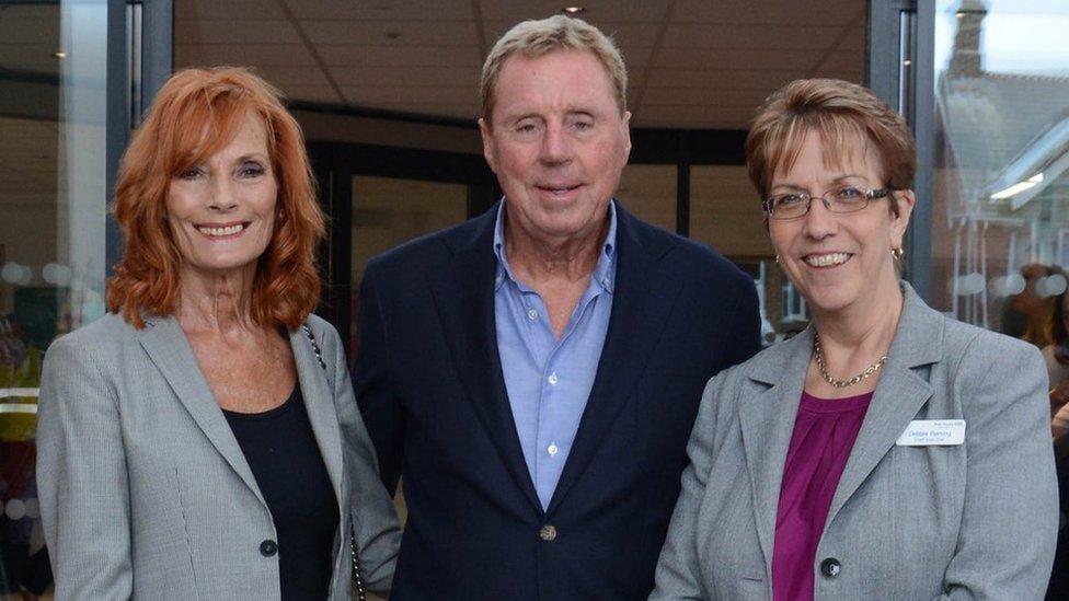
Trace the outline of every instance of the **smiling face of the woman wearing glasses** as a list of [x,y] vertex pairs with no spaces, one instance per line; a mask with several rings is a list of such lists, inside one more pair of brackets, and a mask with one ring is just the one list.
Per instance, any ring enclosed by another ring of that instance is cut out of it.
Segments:
[[[806,192],[816,197],[844,185],[884,186],[872,145],[855,140],[840,151],[839,161],[826,162],[819,132],[809,130],[794,164],[777,170],[771,193]],[[887,206],[896,199],[897,217]],[[769,235],[780,265],[815,313],[880,311],[900,298],[890,251],[901,246],[912,207],[910,190],[838,215],[814,198],[803,217],[770,219]]]

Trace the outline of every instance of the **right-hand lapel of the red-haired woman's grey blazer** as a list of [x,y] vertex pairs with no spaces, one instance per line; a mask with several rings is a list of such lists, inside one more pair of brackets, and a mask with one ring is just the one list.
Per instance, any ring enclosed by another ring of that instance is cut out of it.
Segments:
[[[289,344],[294,350],[297,379],[301,388],[301,396],[304,398],[308,420],[312,425],[312,434],[315,436],[320,454],[323,455],[323,463],[326,465],[331,484],[334,485],[337,505],[344,511],[345,490],[343,486],[345,478],[342,474],[342,432],[337,425],[334,391],[331,390],[330,382],[326,380],[326,372],[312,352],[311,343],[302,328],[298,327],[289,333]],[[317,337],[317,344],[322,345],[320,337]]]

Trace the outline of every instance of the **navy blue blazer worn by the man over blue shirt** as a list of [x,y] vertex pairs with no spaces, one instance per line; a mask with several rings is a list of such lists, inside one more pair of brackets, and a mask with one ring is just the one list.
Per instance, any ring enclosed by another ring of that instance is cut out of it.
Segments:
[[392,599],[645,599],[705,382],[759,348],[752,279],[618,206],[598,372],[549,508],[524,461],[494,325],[495,205],[381,256],[354,384],[409,521]]

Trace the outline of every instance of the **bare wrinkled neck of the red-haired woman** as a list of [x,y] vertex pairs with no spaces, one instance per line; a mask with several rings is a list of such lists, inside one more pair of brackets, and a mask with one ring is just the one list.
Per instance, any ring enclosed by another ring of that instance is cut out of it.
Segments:
[[189,266],[181,269],[175,316],[186,334],[256,334],[263,328],[252,321],[252,285],[256,264],[225,271],[206,273]]

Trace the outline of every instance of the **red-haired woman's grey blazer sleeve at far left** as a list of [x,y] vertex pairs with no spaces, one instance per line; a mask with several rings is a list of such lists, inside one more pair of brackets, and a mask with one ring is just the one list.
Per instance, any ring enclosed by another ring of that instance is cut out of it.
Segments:
[[129,599],[130,505],[117,395],[92,345],[45,355],[37,413],[41,521],[56,599]]

